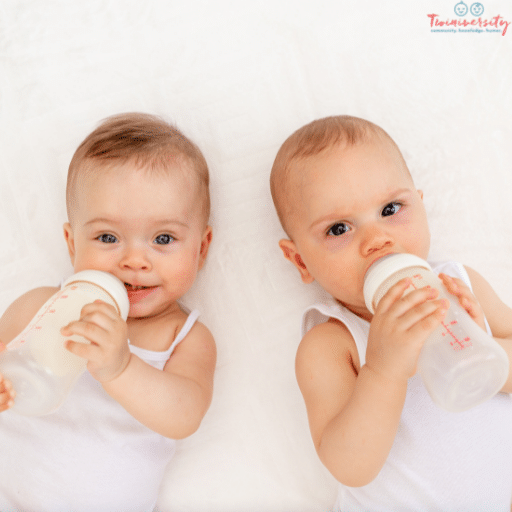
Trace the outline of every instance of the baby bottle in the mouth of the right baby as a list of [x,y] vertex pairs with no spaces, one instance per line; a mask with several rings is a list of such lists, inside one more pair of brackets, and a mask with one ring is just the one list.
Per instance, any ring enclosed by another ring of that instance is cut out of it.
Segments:
[[505,350],[478,326],[457,297],[446,291],[426,261],[411,254],[377,260],[364,280],[367,308],[374,313],[389,288],[405,277],[412,279],[405,293],[428,286],[450,302],[443,322],[428,337],[418,360],[418,371],[432,400],[447,411],[460,412],[494,396],[508,376]]

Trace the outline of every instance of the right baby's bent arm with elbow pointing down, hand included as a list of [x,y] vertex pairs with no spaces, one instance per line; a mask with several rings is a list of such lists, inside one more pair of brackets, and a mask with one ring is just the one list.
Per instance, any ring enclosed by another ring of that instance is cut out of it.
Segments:
[[[296,372],[318,455],[345,485],[370,483],[393,444],[421,347],[446,312],[427,289],[402,297],[400,281],[380,301],[371,322],[366,363],[337,321],[309,331],[297,353]],[[429,295],[430,294],[430,295]]]

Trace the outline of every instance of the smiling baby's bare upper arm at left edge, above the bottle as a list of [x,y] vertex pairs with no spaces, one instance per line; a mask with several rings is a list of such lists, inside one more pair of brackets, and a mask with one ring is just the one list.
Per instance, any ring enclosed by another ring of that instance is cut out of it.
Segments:
[[41,306],[57,291],[58,287],[34,288],[18,297],[0,318],[0,340],[12,341],[29,324]]

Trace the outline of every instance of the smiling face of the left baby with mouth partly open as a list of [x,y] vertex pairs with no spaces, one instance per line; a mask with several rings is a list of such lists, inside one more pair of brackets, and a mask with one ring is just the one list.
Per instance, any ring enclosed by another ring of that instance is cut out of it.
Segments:
[[80,181],[64,226],[75,272],[110,272],[125,283],[130,317],[165,314],[201,268],[211,240],[199,187],[180,169],[170,176],[106,169]]

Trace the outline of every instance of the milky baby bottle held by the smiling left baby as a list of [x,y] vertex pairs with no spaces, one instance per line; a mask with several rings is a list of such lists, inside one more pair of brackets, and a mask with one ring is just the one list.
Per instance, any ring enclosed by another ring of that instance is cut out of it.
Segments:
[[130,303],[124,284],[112,274],[84,270],[67,279],[0,354],[0,373],[16,391],[11,410],[40,416],[62,404],[87,364],[64,342],[89,342],[82,336],[63,336],[60,329],[78,320],[82,307],[97,299],[112,304],[126,320]]

